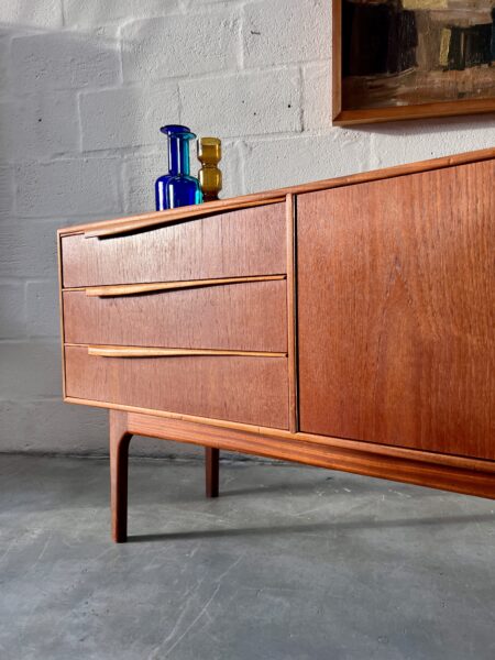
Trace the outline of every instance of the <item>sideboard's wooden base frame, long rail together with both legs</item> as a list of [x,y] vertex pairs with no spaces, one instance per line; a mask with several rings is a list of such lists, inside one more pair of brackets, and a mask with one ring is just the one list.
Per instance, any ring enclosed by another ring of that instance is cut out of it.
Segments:
[[[393,479],[435,488],[495,498],[493,463],[464,460],[463,464],[438,465],[428,459],[415,460],[424,452],[409,452],[408,457],[378,455],[366,449],[318,447],[293,437],[280,441],[257,431],[221,429],[193,421],[164,419],[139,413],[110,410],[110,492],[112,538],[124,542],[128,538],[128,472],[129,443],[133,435],[206,446],[206,495],[218,496],[220,448],[262,457],[285,459],[320,468],[330,468]],[[394,451],[391,449],[391,451]],[[435,455],[431,454],[433,458]]]

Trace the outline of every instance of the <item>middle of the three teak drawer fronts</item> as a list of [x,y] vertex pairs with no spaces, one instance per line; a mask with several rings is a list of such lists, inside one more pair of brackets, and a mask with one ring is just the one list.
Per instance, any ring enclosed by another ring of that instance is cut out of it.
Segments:
[[66,343],[287,352],[286,282],[89,298],[64,292]]

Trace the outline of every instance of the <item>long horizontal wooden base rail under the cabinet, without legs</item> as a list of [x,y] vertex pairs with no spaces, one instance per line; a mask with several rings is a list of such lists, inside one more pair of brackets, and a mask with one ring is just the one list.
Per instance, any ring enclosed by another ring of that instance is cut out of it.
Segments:
[[[495,474],[471,470],[469,461],[462,466],[438,465],[416,461],[414,457],[420,452],[410,452],[409,458],[398,459],[387,454],[378,455],[366,449],[317,446],[297,438],[276,439],[262,433],[221,429],[139,413],[129,413],[127,425],[130,432],[140,436],[204,444],[495,499]],[[491,464],[487,462],[487,465]]]

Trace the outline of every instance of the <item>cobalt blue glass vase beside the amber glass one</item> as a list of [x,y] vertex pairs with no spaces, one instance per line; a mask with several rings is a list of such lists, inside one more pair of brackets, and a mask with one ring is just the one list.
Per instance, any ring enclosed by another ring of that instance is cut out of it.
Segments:
[[189,141],[196,135],[187,127],[178,124],[169,124],[160,130],[168,138],[168,174],[156,179],[156,210],[201,204],[199,182],[189,174]]

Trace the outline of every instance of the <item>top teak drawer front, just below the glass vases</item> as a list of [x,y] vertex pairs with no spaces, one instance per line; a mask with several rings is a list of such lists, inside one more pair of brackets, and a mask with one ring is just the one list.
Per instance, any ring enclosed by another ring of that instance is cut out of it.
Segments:
[[108,239],[62,238],[64,287],[286,273],[285,205]]

